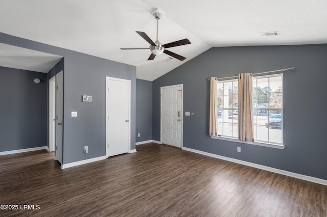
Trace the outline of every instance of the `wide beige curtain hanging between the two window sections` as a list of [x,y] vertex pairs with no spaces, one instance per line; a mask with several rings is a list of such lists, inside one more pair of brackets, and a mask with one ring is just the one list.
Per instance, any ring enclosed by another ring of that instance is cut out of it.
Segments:
[[239,74],[238,140],[254,142],[252,73]]

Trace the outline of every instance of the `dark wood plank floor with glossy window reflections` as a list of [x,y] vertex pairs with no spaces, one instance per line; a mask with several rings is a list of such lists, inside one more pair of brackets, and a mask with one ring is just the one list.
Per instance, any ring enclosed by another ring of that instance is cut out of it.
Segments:
[[327,186],[164,145],[61,170],[53,153],[0,156],[0,216],[326,216]]

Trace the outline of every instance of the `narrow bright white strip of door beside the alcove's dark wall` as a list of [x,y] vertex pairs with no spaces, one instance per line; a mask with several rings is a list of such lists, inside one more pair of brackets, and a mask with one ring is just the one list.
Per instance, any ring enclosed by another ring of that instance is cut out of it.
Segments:
[[49,80],[49,151],[55,151],[56,144],[56,76]]

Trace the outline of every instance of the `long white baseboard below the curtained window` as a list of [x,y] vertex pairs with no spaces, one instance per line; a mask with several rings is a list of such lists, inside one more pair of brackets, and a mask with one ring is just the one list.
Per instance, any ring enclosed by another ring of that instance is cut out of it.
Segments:
[[275,169],[272,167],[267,167],[267,166],[263,166],[263,165],[259,165],[259,164],[253,164],[251,162],[247,162],[247,161],[243,161],[243,160],[238,160],[238,159],[234,159],[234,158],[230,158],[230,157],[225,157],[225,156],[221,156],[221,155],[217,155],[217,154],[212,154],[212,153],[208,153],[208,152],[204,152],[204,151],[199,151],[196,149],[192,149],[192,148],[186,148],[186,147],[182,147],[182,150],[185,151],[191,151],[194,153],[198,153],[198,154],[203,154],[209,157],[215,157],[218,159],[222,159],[222,160],[227,160],[230,162],[235,162],[237,164],[241,164],[241,165],[245,165],[245,166],[249,166],[249,167],[254,167],[254,168],[258,168],[261,170],[266,170],[269,172],[273,172],[273,173],[278,173],[278,174],[282,174],[285,176],[290,176],[290,177],[294,177],[294,178],[298,178],[298,179],[302,179],[302,180],[306,180],[306,181],[310,181],[310,182],[315,182],[318,184],[323,184],[323,185],[327,185],[327,180],[324,179],[319,179],[319,178],[315,178],[315,177],[311,177],[311,176],[306,176],[306,175],[301,175],[298,173],[292,173],[289,171],[285,171],[285,170],[279,170],[279,169]]

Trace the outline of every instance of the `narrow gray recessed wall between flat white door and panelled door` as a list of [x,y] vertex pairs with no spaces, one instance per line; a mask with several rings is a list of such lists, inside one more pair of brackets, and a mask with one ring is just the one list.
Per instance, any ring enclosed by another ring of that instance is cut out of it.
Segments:
[[136,142],[152,140],[152,82],[148,80],[136,79],[136,114]]

